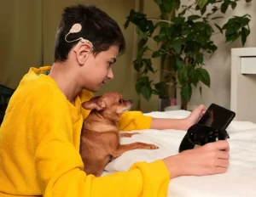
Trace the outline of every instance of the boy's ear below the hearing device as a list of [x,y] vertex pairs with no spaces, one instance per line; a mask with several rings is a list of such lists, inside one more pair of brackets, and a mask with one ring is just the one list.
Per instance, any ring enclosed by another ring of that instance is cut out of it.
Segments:
[[92,48],[91,48],[90,43],[79,42],[73,50],[76,52],[76,56],[77,56],[79,65],[84,65],[86,59],[88,59],[88,57],[92,51]]

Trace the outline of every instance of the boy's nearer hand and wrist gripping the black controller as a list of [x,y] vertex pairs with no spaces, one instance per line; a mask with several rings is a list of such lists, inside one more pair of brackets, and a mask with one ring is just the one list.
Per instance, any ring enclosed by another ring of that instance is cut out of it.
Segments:
[[217,141],[185,150],[164,159],[171,178],[180,176],[206,176],[227,171],[230,165],[230,146],[227,141]]

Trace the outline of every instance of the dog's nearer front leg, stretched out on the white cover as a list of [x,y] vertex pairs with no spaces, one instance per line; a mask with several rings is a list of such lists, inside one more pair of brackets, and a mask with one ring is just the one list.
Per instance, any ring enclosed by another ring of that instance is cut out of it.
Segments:
[[114,150],[112,156],[113,158],[119,157],[123,153],[132,149],[158,149],[158,146],[154,144],[145,143],[132,143],[132,144],[120,144],[117,149]]

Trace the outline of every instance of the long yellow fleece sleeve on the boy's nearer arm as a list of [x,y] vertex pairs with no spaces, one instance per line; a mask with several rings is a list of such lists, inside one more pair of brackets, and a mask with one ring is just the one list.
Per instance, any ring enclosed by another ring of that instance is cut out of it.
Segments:
[[162,160],[138,162],[128,172],[104,177],[86,175],[68,134],[71,126],[67,115],[55,106],[47,104],[41,111],[44,121],[36,138],[35,166],[44,197],[166,196],[170,176]]

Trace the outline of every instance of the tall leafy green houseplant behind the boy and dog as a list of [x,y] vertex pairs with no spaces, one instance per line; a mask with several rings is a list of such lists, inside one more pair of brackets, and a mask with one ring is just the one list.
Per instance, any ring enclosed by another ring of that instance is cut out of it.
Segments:
[[[132,9],[126,18],[125,29],[130,24],[136,25],[139,36],[137,59],[133,61],[134,69],[140,73],[137,93],[146,100],[152,94],[168,97],[167,85],[178,86],[181,88],[182,109],[186,110],[192,86],[200,86],[200,91],[202,84],[211,86],[209,73],[203,65],[206,54],[212,55],[218,49],[212,36],[221,33],[225,42],[240,38],[242,46],[247,41],[250,15],[233,16],[223,26],[215,22],[224,18],[228,8],[235,9],[239,1],[242,0],[194,0],[189,5],[181,5],[180,0],[154,0],[160,8],[159,18],[149,18],[147,14]],[[243,1],[249,3],[252,0]],[[181,11],[177,13],[177,10]],[[158,48],[148,47],[150,39],[157,42]],[[148,77],[149,72],[156,72],[152,64],[154,58],[161,59],[160,70],[165,73],[160,82]],[[166,59],[170,62],[167,69],[164,66]]]

